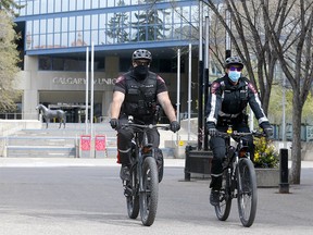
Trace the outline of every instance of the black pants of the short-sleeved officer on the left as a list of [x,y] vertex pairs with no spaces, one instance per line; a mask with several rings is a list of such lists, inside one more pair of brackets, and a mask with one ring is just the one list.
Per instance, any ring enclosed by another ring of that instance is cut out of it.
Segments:
[[[153,119],[151,119],[151,123],[143,122],[145,124],[152,124]],[[135,123],[142,124],[142,122],[138,120],[134,120]],[[118,119],[120,124],[128,123],[128,116],[121,116]],[[147,133],[148,141],[153,145],[154,148],[159,148],[160,146],[160,134],[158,129],[151,128]],[[132,139],[134,138],[134,129],[132,127],[123,127],[117,129],[117,150],[120,154],[120,163],[129,164],[130,163],[130,154],[132,154]]]

